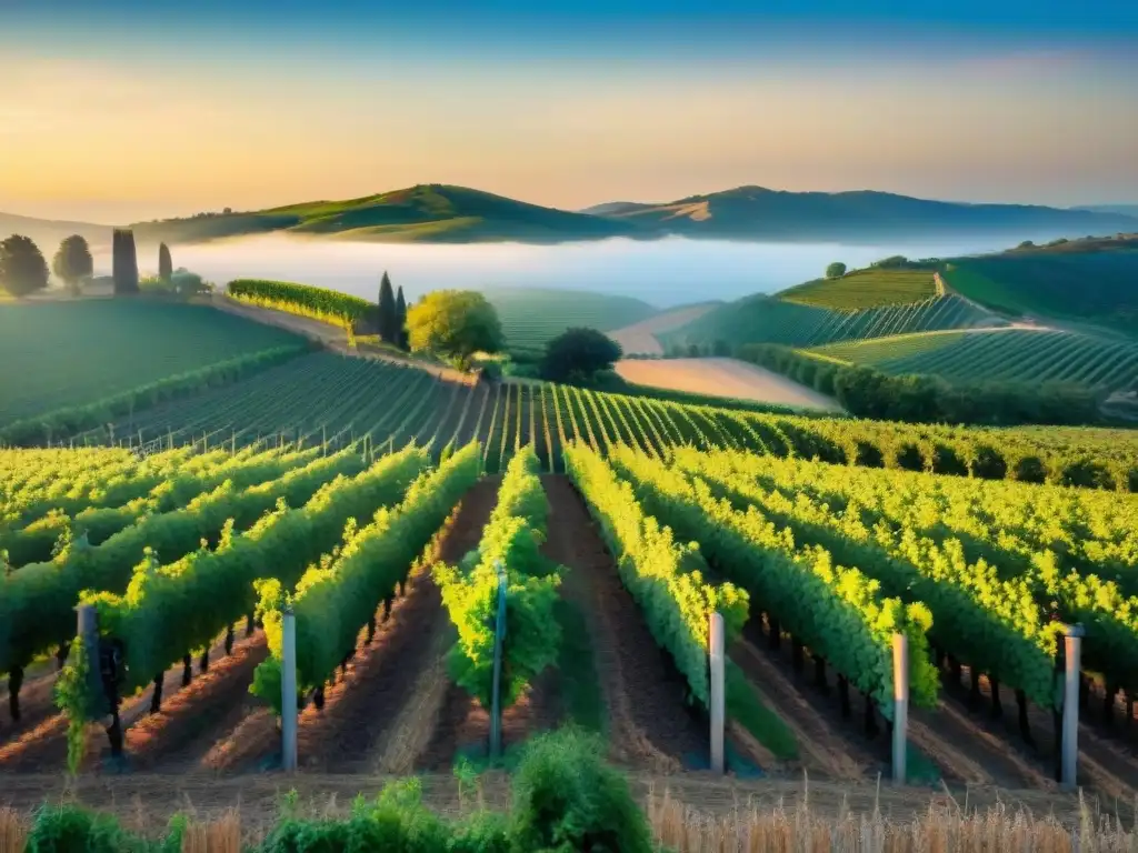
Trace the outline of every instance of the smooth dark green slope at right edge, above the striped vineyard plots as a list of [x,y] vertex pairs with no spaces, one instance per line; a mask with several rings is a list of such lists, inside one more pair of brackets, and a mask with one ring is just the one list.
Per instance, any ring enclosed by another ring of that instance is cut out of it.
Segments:
[[950,262],[946,283],[1015,316],[1083,320],[1136,334],[1138,249],[1014,251]]

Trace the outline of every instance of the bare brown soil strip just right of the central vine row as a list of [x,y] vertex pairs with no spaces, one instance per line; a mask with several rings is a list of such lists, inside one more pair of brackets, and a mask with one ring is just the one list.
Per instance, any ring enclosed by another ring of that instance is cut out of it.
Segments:
[[681,677],[621,586],[584,502],[564,477],[543,483],[551,506],[544,550],[569,570],[564,595],[585,614],[613,757],[657,772],[706,761],[707,738],[684,707]]

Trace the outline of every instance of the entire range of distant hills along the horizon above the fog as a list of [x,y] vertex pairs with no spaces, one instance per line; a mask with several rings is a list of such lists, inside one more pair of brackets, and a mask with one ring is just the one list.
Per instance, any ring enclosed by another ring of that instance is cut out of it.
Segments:
[[[92,226],[101,227],[101,226]],[[968,205],[887,192],[785,192],[760,187],[665,204],[615,201],[559,210],[448,184],[418,184],[341,201],[305,201],[264,210],[204,213],[134,223],[142,243],[204,242],[289,233],[376,242],[559,243],[611,237],[850,242],[1007,233],[1021,239],[1138,231],[1116,212],[1023,205]],[[0,232],[5,231],[0,217]],[[81,232],[82,233],[82,232]]]

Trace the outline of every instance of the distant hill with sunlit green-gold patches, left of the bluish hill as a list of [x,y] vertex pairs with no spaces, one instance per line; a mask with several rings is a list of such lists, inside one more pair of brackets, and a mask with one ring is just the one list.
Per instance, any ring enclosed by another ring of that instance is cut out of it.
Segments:
[[539,207],[480,190],[420,184],[347,201],[138,223],[137,239],[170,243],[284,232],[377,242],[556,243],[628,235],[626,223]]

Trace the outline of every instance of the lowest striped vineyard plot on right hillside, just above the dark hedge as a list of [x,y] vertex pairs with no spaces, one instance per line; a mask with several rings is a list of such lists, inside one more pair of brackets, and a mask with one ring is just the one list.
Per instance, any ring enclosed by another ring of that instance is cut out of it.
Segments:
[[1118,390],[1138,373],[1138,345],[1062,331],[909,334],[814,351],[887,373],[927,373],[962,382],[1071,382]]

